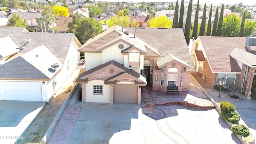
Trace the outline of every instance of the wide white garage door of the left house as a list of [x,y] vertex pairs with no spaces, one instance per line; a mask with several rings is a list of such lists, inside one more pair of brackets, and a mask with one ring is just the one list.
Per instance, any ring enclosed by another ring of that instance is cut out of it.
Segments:
[[0,81],[0,100],[42,101],[41,83]]

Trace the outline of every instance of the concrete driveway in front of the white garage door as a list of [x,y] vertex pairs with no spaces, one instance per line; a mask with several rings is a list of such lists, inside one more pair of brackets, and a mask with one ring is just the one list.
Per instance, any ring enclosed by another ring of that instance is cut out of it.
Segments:
[[0,101],[0,143],[14,144],[45,102]]

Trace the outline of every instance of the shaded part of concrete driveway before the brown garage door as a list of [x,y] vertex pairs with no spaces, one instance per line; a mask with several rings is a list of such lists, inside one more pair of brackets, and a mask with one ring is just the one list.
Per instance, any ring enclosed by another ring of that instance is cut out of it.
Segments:
[[108,144],[115,133],[131,129],[139,110],[134,104],[84,103],[69,144]]

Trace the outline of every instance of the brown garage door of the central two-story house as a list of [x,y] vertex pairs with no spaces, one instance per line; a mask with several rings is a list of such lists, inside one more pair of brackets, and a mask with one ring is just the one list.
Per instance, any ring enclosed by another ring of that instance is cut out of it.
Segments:
[[137,104],[137,86],[132,84],[114,86],[114,103]]

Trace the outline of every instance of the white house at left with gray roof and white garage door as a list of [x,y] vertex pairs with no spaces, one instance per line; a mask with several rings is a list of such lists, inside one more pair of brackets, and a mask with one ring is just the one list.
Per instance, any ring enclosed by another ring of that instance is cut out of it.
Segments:
[[49,102],[80,61],[74,34],[0,28],[0,100]]

